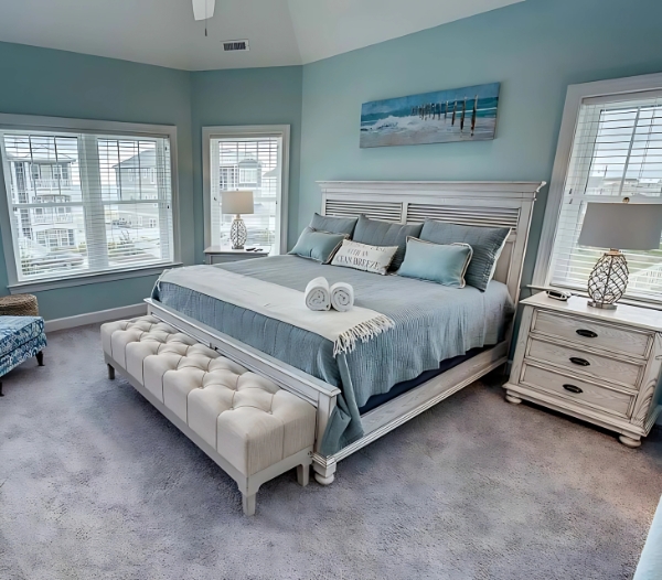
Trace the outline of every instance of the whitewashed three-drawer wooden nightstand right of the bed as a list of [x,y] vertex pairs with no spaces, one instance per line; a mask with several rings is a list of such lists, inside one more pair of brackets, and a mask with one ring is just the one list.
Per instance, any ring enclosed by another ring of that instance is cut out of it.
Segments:
[[662,410],[662,312],[600,310],[586,298],[559,302],[544,292],[521,303],[506,400],[549,407],[639,447]]

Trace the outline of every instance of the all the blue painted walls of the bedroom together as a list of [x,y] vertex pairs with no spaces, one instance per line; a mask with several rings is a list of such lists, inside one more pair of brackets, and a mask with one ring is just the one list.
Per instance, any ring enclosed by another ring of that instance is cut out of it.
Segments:
[[[526,0],[301,66],[186,73],[0,43],[0,112],[175,125],[182,258],[203,258],[205,125],[291,125],[290,245],[318,180],[549,181],[567,85],[662,71],[660,0]],[[494,141],[359,148],[367,100],[501,82]],[[531,280],[541,196],[525,265]],[[153,277],[40,292],[46,319],[138,303]],[[0,251],[0,293],[7,292]]]

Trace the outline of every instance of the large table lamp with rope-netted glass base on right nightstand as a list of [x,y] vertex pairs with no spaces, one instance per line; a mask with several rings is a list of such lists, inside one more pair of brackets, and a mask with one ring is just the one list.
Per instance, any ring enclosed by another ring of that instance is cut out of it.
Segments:
[[[622,249],[659,249],[662,204],[588,203],[579,246],[610,248],[588,278],[588,304],[615,310],[628,287],[628,262]],[[618,248],[618,249],[616,249]]]

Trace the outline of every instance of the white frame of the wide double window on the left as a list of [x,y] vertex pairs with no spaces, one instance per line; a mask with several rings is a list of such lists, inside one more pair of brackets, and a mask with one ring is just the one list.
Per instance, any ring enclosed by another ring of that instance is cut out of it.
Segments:
[[0,130],[43,130],[75,131],[79,133],[117,133],[129,137],[168,138],[170,140],[170,175],[172,203],[172,261],[141,267],[119,268],[111,271],[82,272],[61,278],[57,276],[39,280],[19,281],[15,249],[11,230],[11,216],[8,203],[7,182],[3,163],[0,162],[0,228],[7,265],[7,288],[11,294],[21,292],[39,292],[55,288],[68,288],[95,282],[122,280],[159,273],[163,268],[181,266],[181,238],[179,230],[179,175],[177,127],[172,125],[147,125],[121,121],[97,121],[90,119],[73,119],[66,117],[41,117],[33,115],[0,114]]

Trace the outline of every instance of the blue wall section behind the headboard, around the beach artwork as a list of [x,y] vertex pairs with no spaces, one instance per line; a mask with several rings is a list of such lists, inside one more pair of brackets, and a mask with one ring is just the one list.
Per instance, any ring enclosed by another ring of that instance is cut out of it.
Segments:
[[[548,182],[567,86],[662,71],[660,22],[660,0],[526,0],[305,66],[297,229],[320,207],[317,180]],[[492,82],[494,141],[359,148],[362,103]]]

